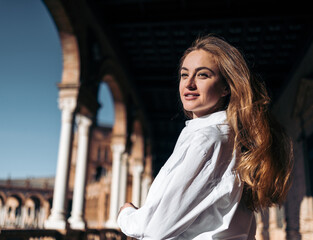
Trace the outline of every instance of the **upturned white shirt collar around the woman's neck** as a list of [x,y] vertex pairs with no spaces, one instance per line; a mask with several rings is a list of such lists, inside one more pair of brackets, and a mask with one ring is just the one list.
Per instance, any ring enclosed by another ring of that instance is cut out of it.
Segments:
[[196,130],[212,125],[226,124],[227,123],[226,120],[227,120],[226,111],[219,111],[199,118],[187,120],[185,124],[188,130]]

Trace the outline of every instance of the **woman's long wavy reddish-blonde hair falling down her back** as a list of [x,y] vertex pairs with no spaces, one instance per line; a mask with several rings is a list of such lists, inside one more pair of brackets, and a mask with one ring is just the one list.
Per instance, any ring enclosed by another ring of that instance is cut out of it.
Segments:
[[265,86],[251,74],[243,55],[214,35],[198,38],[192,51],[214,55],[221,77],[229,87],[225,100],[227,120],[234,134],[237,172],[245,183],[243,198],[253,210],[281,205],[290,188],[292,144],[271,115]]

